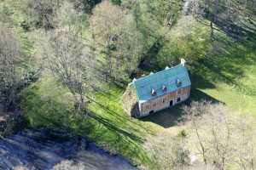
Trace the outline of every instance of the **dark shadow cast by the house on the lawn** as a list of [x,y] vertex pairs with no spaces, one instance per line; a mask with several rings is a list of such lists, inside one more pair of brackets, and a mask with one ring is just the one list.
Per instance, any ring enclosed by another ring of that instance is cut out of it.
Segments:
[[192,88],[190,98],[183,102],[183,104],[175,105],[172,108],[156,112],[153,115],[143,117],[141,120],[144,122],[154,122],[155,124],[165,128],[177,126],[178,120],[180,120],[183,116],[183,106],[190,105],[192,101],[201,100],[211,101],[212,103],[220,102],[217,99],[203,93],[201,90]]

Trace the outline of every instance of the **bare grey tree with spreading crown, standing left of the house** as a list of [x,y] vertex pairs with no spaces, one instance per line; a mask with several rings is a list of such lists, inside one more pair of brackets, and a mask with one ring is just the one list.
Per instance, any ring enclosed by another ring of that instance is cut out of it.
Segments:
[[90,71],[88,48],[72,32],[55,31],[50,35],[45,55],[49,70],[73,94],[77,111],[83,111],[85,82]]

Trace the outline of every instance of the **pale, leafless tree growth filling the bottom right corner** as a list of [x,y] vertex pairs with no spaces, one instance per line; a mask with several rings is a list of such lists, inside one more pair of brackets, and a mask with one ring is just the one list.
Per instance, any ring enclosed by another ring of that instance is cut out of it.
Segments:
[[224,170],[230,165],[237,169],[255,168],[253,117],[234,116],[236,113],[230,113],[223,104],[207,101],[193,102],[184,107],[184,112],[192,130],[189,140],[192,148],[197,148],[205,168]]

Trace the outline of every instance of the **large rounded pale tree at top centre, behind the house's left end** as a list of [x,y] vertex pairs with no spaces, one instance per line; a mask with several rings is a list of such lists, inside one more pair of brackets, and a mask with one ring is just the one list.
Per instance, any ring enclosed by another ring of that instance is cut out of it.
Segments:
[[127,11],[104,1],[96,6],[90,19],[92,39],[103,49],[106,79],[124,80],[137,68],[142,53],[140,34]]

